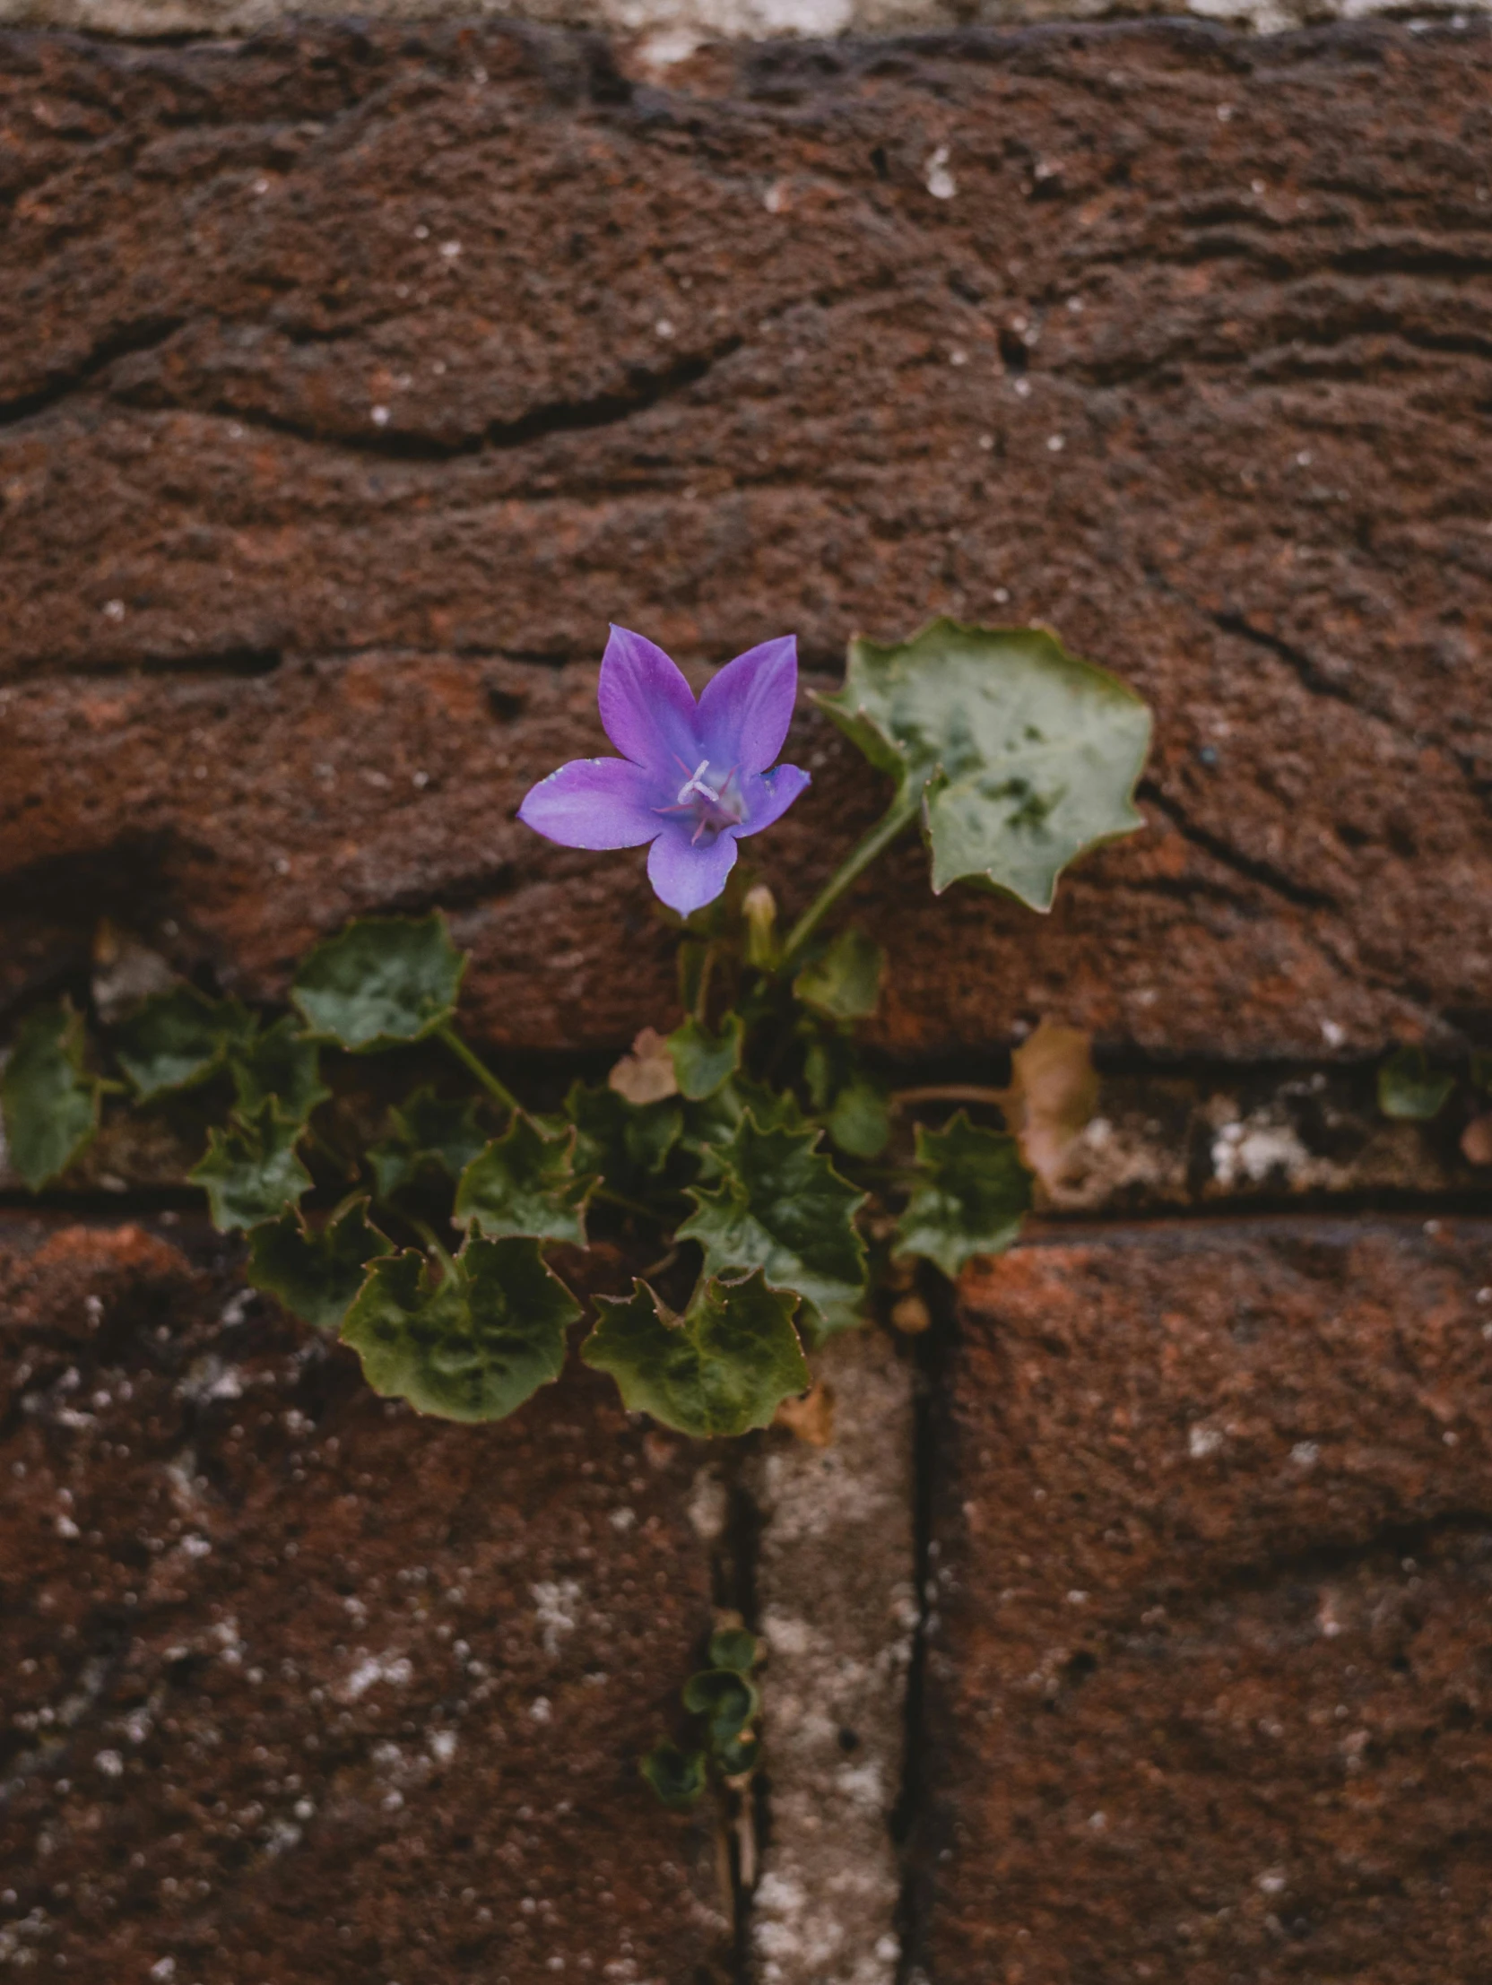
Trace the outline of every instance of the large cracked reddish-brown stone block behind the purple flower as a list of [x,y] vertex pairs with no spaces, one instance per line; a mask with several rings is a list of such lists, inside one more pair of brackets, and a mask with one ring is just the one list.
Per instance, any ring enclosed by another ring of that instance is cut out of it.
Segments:
[[[867,885],[885,1042],[1488,1028],[1492,44],[1200,26],[716,50],[546,30],[0,56],[10,996],[107,909],[248,992],[448,903],[494,1042],[667,1018],[641,863],[512,822],[607,617],[1046,617],[1157,705],[1054,917]],[[754,854],[869,818],[825,727]],[[627,971],[617,973],[617,955]]]

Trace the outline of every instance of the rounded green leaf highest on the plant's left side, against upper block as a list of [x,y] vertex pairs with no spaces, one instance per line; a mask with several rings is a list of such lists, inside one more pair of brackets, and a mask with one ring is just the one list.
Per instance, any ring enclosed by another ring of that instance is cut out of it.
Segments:
[[311,951],[290,996],[311,1032],[373,1054],[446,1026],[464,971],[438,911],[365,917]]

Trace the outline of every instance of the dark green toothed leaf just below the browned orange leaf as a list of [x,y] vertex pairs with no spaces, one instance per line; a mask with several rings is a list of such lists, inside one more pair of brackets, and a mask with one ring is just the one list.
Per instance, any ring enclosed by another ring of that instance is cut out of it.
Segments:
[[934,1260],[952,1280],[974,1255],[1000,1255],[1020,1237],[1032,1175],[1020,1145],[960,1110],[942,1129],[917,1125],[919,1181],[897,1223],[905,1255]]

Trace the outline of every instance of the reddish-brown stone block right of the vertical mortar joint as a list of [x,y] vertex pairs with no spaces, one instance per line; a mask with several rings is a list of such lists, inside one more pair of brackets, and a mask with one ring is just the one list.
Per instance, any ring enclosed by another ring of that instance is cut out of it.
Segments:
[[968,1274],[938,1985],[1488,1975],[1490,1243],[1188,1223]]

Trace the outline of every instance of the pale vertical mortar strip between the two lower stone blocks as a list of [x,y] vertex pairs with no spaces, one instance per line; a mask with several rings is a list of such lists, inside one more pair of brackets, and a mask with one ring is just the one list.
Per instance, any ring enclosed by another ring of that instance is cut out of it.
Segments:
[[913,1374],[885,1334],[815,1360],[833,1441],[756,1473],[772,1826],[752,1898],[760,1985],[893,1985],[913,1582]]

